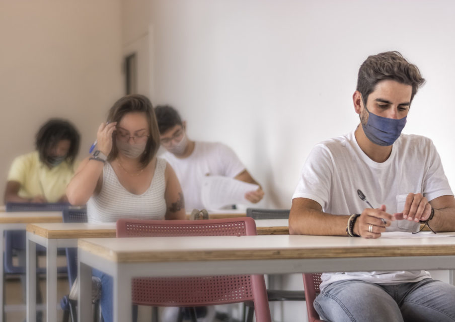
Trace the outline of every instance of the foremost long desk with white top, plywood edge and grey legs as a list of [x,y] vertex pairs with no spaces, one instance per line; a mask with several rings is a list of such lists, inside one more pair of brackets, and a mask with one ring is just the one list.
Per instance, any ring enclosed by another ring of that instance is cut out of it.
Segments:
[[[455,232],[447,234],[455,236]],[[92,267],[114,278],[113,307],[114,321],[117,322],[131,318],[133,277],[455,268],[455,237],[364,239],[257,235],[96,238],[80,239],[78,248],[80,321],[88,321],[91,317]]]

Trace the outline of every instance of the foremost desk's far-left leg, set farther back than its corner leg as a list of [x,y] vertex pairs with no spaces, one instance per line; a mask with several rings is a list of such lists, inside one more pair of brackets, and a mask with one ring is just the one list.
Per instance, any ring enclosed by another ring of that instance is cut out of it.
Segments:
[[[78,254],[80,259],[80,255]],[[87,322],[92,320],[92,268],[78,259],[78,320]]]

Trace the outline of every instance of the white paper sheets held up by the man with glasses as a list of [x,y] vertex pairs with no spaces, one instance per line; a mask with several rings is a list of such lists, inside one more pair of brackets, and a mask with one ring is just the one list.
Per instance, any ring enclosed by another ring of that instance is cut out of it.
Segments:
[[258,185],[234,178],[206,176],[202,179],[201,200],[207,210],[235,204],[251,204],[245,199],[245,194],[258,188]]

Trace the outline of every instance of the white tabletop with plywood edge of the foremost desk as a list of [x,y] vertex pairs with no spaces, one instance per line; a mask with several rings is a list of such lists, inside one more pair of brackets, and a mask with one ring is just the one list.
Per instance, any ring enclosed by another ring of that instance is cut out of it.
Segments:
[[[447,234],[455,235],[455,232]],[[455,255],[455,237],[413,239],[308,235],[134,237],[80,239],[78,245],[89,253],[114,262]]]

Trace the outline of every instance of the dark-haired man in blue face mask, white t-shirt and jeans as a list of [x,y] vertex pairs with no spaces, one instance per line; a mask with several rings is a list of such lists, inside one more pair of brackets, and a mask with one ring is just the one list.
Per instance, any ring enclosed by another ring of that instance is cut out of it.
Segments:
[[[423,84],[417,66],[398,52],[363,62],[353,95],[360,124],[310,153],[290,233],[378,238],[417,232],[422,223],[455,230],[455,198],[433,143],[401,133]],[[365,208],[363,193],[378,208]],[[314,305],[327,321],[455,321],[455,286],[427,271],[324,273],[322,280]]]

